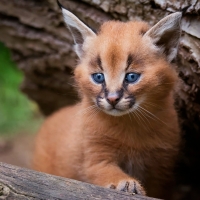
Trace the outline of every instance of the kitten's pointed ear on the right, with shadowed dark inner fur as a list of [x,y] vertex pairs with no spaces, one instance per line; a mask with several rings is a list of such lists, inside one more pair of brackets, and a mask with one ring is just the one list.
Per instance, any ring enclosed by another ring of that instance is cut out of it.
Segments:
[[176,12],[160,20],[144,36],[151,38],[152,42],[171,62],[177,55],[179,38],[181,34],[181,12]]

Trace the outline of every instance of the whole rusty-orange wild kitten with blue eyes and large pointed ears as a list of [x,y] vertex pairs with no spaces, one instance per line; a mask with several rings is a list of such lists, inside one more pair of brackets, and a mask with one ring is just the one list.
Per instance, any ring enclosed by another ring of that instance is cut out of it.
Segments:
[[170,62],[177,54],[182,14],[152,28],[109,21],[95,33],[61,8],[80,59],[74,75],[81,102],[44,122],[34,168],[169,198],[180,143],[173,99],[178,77]]

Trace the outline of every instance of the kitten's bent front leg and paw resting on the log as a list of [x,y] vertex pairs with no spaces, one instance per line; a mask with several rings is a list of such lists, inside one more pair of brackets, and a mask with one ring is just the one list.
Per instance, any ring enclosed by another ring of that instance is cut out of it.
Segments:
[[107,188],[145,195],[140,182],[125,174],[115,164],[99,163],[86,168],[85,181]]

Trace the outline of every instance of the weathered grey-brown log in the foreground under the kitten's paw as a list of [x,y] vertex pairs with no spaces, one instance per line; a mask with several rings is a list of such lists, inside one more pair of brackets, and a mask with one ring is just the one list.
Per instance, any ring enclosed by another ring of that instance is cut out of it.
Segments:
[[0,199],[156,200],[0,163]]

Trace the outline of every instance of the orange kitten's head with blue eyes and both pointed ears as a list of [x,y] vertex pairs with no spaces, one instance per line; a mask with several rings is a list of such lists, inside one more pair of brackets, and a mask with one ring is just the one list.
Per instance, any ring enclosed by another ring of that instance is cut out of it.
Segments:
[[71,12],[62,12],[80,58],[75,79],[83,98],[121,116],[169,96],[177,79],[170,62],[177,53],[181,13],[152,28],[110,21],[96,34]]

